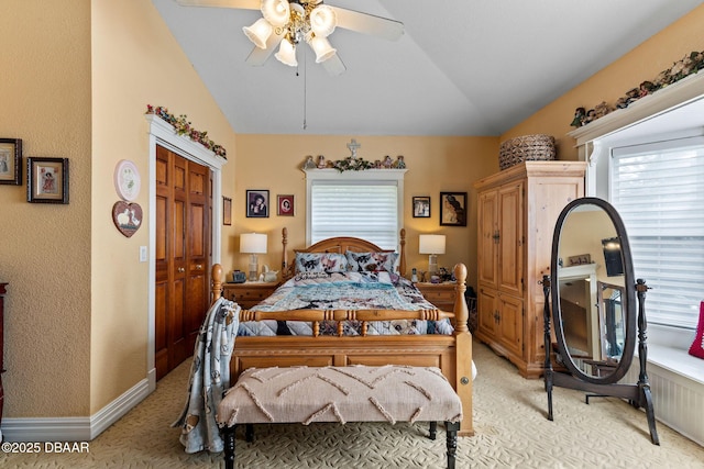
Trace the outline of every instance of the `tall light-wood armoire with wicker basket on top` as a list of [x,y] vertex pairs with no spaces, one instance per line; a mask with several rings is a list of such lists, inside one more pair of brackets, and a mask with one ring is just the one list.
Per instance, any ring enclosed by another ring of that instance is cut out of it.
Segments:
[[583,161],[524,161],[474,183],[477,191],[477,328],[474,337],[538,378],[544,361],[543,275],[562,209],[584,197]]

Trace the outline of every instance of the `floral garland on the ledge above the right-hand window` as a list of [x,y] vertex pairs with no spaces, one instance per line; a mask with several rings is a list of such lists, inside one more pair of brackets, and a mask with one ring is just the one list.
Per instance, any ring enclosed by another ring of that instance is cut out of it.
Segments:
[[637,88],[632,88],[626,92],[626,96],[618,98],[614,105],[608,104],[606,101],[602,101],[601,104],[586,111],[584,108],[578,108],[574,111],[574,120],[570,125],[573,127],[581,127],[590,122],[596,121],[600,118],[608,114],[617,109],[626,109],[631,103],[638,101],[640,98],[666,88],[668,85],[672,85],[681,79],[694,75],[700,70],[704,70],[704,51],[692,52],[680,60],[675,62],[672,67],[661,71],[652,81],[644,81]]

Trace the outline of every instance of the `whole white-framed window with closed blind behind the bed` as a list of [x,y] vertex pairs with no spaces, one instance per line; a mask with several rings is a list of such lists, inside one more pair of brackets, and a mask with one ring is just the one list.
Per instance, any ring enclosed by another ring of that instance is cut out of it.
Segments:
[[307,171],[307,242],[354,236],[397,249],[404,169]]

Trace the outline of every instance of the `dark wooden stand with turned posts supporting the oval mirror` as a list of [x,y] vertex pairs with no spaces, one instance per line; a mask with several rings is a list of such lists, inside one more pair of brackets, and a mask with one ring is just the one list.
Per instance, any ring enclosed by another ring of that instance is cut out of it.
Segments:
[[638,376],[638,382],[636,384],[601,384],[583,381],[572,375],[564,372],[556,372],[552,368],[552,360],[550,358],[551,348],[551,333],[550,333],[550,277],[543,276],[542,278],[542,291],[544,293],[544,347],[546,347],[546,360],[544,360],[544,388],[548,394],[548,420],[553,420],[552,413],[552,388],[554,386],[560,388],[568,388],[574,390],[586,391],[590,394],[586,395],[586,403],[588,404],[588,398],[594,397],[613,397],[626,399],[636,409],[644,407],[648,418],[648,428],[650,431],[650,440],[653,445],[660,445],[658,437],[658,431],[656,429],[656,415],[652,406],[652,394],[650,392],[650,382],[648,381],[648,375],[646,372],[646,362],[648,358],[648,345],[647,345],[647,322],[646,322],[646,292],[648,286],[645,280],[638,279],[636,284],[636,293],[638,297],[638,358],[640,361],[640,373]]

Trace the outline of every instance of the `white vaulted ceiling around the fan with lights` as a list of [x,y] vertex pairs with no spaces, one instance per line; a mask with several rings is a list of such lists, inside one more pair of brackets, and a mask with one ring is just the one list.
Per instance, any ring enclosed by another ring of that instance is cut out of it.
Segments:
[[152,2],[234,132],[337,135],[499,135],[702,3],[329,0],[405,24],[397,42],[337,29],[331,77],[307,46],[297,69],[245,64],[258,11]]

